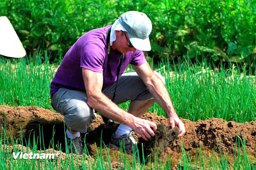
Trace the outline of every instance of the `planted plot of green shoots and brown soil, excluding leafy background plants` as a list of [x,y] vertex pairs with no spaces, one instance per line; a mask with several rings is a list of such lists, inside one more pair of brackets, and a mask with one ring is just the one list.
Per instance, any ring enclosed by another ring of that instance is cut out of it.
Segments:
[[[152,65],[165,77],[185,124],[182,140],[170,140],[175,132],[154,104],[143,118],[158,125],[156,137],[149,142],[139,137],[132,156],[109,149],[118,124],[106,127],[100,116],[85,134],[84,155],[77,156],[67,153],[63,117],[50,105],[50,82],[58,64],[40,57],[14,61],[2,57],[0,63],[1,169],[255,169],[256,79],[236,65],[226,70],[189,60]],[[129,102],[120,105],[125,110],[128,106]],[[61,156],[13,159],[12,152]]]

